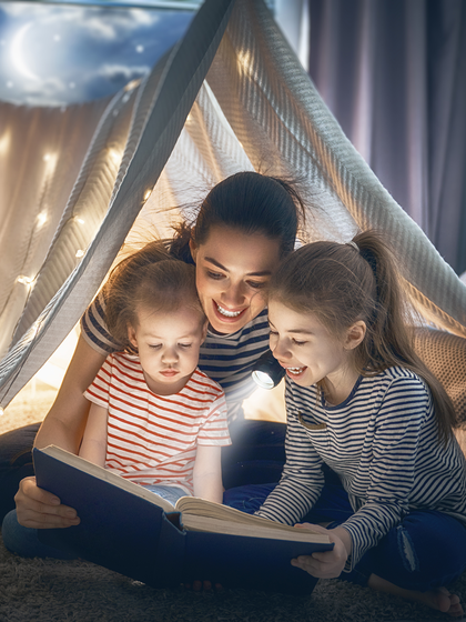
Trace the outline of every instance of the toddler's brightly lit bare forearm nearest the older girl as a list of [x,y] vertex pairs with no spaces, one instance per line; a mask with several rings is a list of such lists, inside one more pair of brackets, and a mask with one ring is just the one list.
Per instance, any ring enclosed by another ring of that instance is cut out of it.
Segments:
[[219,445],[197,445],[193,470],[194,496],[222,503],[221,450]]

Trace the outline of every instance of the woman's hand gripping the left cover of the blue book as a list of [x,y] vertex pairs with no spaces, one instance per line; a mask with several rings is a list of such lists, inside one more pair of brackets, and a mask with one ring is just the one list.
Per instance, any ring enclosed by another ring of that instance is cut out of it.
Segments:
[[62,505],[51,492],[36,484],[36,478],[24,478],[14,496],[18,522],[32,529],[57,529],[77,525],[77,511]]

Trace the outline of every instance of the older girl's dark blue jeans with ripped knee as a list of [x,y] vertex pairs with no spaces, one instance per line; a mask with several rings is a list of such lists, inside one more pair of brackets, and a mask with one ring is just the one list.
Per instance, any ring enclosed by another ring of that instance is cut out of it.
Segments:
[[[254,513],[276,484],[246,485],[225,491],[223,502]],[[335,528],[354,514],[338,483],[326,483],[321,496],[302,522],[331,522]],[[351,572],[340,579],[366,585],[376,574],[399,588],[425,592],[455,581],[466,570],[466,526],[435,510],[412,511],[369,549]]]

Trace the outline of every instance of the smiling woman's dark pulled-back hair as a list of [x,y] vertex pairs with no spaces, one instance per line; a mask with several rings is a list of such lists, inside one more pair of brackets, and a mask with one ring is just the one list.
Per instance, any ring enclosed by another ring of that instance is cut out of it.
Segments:
[[304,203],[291,182],[256,172],[240,172],[212,188],[195,223],[176,227],[171,253],[183,261],[192,261],[190,239],[196,245],[203,244],[212,227],[223,225],[280,240],[283,257],[294,249],[304,220]]

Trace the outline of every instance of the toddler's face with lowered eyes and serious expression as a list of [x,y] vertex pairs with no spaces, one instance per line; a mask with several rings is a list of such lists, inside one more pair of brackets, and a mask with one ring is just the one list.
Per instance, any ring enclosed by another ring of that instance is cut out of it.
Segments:
[[128,333],[138,348],[149,389],[158,395],[178,393],[197,367],[207,330],[205,319],[189,308],[154,313],[142,307],[138,320]]

